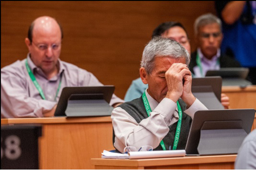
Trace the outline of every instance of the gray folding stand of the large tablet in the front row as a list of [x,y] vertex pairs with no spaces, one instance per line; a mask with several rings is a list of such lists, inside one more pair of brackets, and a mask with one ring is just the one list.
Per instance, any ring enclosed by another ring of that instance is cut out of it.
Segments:
[[199,155],[237,154],[246,136],[242,120],[204,122],[197,151]]

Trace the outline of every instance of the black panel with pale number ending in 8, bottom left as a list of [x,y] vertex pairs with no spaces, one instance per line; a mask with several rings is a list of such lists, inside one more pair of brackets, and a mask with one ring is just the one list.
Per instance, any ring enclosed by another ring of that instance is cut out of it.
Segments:
[[38,169],[39,125],[1,126],[1,169]]

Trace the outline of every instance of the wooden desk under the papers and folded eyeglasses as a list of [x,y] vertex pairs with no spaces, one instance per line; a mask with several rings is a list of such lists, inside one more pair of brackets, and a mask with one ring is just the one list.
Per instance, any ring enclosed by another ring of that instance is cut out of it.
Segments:
[[92,159],[95,169],[234,169],[237,155],[158,159]]

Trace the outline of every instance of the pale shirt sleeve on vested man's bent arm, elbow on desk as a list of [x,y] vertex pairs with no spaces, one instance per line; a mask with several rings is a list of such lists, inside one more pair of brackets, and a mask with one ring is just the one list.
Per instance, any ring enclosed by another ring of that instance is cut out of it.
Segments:
[[144,145],[156,148],[169,131],[169,123],[176,109],[176,103],[163,99],[150,113],[150,117],[139,124],[125,110],[117,107],[111,114],[115,132],[114,147],[123,152],[124,147],[137,149]]

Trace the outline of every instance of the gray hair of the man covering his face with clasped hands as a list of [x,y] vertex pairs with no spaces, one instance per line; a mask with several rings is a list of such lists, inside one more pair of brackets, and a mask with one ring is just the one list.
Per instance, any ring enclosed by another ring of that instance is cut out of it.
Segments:
[[155,57],[185,58],[187,66],[190,63],[190,54],[182,45],[160,36],[153,37],[144,48],[140,67],[144,67],[147,74],[151,74],[154,68]]

